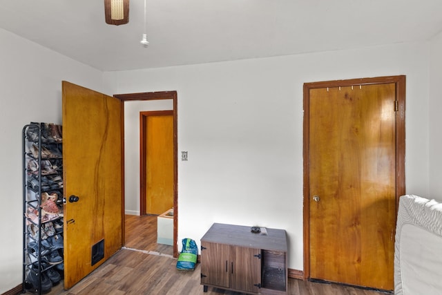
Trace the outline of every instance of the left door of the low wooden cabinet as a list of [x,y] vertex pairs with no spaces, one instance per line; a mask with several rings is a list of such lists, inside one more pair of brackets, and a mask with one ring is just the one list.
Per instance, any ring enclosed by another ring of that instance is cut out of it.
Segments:
[[201,242],[201,283],[229,288],[229,245]]

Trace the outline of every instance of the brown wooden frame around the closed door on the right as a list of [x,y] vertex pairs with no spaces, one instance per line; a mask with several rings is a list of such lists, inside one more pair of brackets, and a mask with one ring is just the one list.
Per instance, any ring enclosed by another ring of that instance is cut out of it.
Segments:
[[309,184],[309,97],[310,89],[344,86],[363,86],[372,84],[391,84],[396,86],[396,215],[399,197],[405,194],[405,75],[309,82],[304,84],[303,93],[303,240],[304,271],[302,278],[310,278],[310,184]]

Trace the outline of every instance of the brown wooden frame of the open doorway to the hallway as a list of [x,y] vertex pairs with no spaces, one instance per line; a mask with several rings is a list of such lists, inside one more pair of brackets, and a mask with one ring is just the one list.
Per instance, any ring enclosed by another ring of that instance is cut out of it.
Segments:
[[[178,257],[177,232],[178,232],[178,163],[177,163],[177,92],[176,91],[160,91],[147,93],[126,93],[115,94],[113,97],[123,102],[122,107],[122,141],[124,142],[124,102],[128,101],[148,101],[173,99],[173,257]],[[123,165],[124,165],[124,144],[123,144]],[[141,164],[141,163],[140,163]],[[124,170],[124,169],[123,169]],[[124,184],[124,182],[123,182]],[[126,244],[125,225],[124,225],[124,185],[123,185],[123,209],[122,209],[122,245]]]

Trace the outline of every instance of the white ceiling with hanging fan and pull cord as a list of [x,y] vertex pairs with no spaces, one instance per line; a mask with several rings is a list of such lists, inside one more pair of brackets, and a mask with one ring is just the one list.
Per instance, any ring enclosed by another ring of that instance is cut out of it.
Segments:
[[131,0],[129,23],[103,0],[1,0],[0,28],[99,70],[132,70],[431,39],[441,0]]

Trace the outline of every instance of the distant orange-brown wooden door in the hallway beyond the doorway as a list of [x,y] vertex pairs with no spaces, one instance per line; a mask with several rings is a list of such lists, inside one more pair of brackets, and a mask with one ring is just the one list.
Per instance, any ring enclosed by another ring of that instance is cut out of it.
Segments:
[[173,111],[142,112],[146,212],[162,214],[173,208]]

